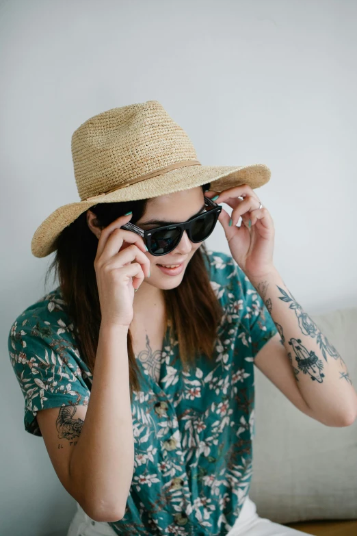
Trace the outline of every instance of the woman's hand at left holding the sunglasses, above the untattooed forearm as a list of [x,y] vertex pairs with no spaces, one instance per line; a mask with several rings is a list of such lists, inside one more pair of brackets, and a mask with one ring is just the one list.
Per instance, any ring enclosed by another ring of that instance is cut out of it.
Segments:
[[134,314],[134,289],[150,274],[144,240],[137,233],[120,229],[131,216],[120,216],[101,231],[94,259],[101,323],[128,329]]

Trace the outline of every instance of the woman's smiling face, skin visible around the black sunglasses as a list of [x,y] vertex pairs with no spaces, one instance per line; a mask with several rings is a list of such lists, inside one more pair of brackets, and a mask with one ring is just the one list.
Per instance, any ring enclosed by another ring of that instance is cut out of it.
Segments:
[[[146,212],[140,220],[135,222],[135,225],[146,231],[169,223],[185,222],[200,212],[204,212],[204,194],[202,188],[198,186],[190,190],[148,199]],[[143,283],[163,290],[177,287],[183,279],[192,255],[201,244],[202,242],[196,244],[191,242],[184,231],[181,241],[167,255],[156,257],[146,253],[146,257],[150,260],[150,277],[146,277]],[[179,273],[175,274],[176,270],[175,272],[162,270],[160,268],[162,264],[169,266],[181,264],[182,266],[177,270]]]

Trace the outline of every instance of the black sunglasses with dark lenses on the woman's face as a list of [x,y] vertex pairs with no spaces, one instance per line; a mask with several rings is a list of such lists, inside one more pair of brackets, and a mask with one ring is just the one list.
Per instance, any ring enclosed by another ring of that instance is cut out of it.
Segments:
[[140,235],[151,255],[166,255],[176,248],[182,238],[183,231],[187,231],[189,240],[194,243],[203,242],[209,237],[215,228],[222,207],[206,196],[204,196],[204,205],[207,207],[206,212],[202,212],[202,214],[198,214],[198,216],[183,223],[172,223],[144,231],[137,225],[128,222],[122,225],[121,229],[127,229],[127,231],[133,231]]

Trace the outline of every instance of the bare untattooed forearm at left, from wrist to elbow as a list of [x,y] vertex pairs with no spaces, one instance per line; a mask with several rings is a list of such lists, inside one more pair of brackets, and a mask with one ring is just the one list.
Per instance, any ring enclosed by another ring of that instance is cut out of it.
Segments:
[[90,401],[70,461],[78,496],[98,521],[122,518],[133,478],[127,336],[125,327],[101,325]]

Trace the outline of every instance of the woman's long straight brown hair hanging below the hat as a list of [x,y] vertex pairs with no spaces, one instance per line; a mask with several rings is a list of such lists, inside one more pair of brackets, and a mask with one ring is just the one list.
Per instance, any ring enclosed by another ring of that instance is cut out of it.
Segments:
[[[209,183],[204,184],[202,190],[209,190]],[[137,222],[146,210],[147,201],[140,199],[121,203],[98,203],[90,207],[90,210],[96,214],[96,225],[103,229],[129,210],[133,211],[130,221]],[[55,257],[47,270],[46,281],[54,268],[54,278],[59,276],[59,286],[68,316],[76,327],[74,333],[79,352],[93,373],[101,326],[101,307],[94,270],[98,238],[88,227],[86,214],[86,211],[83,212],[58,236]],[[170,323],[170,335],[175,334],[177,337],[184,370],[187,370],[188,365],[194,365],[196,353],[203,353],[211,358],[217,326],[222,318],[222,307],[211,288],[204,255],[209,261],[207,248],[202,243],[191,257],[181,284],[176,288],[163,290],[166,320]],[[140,368],[133,353],[130,328],[128,358],[132,398],[133,390],[140,390]]]

